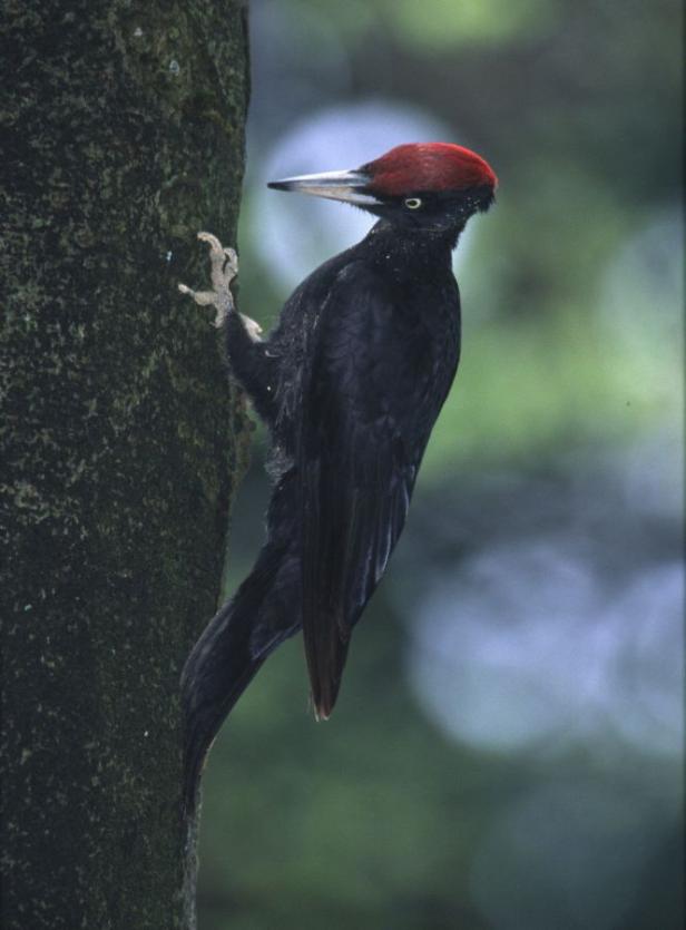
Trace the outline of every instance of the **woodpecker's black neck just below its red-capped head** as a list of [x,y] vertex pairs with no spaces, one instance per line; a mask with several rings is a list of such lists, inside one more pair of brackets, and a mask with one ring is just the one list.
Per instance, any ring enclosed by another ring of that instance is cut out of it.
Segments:
[[411,229],[380,219],[360,245],[374,264],[402,275],[433,274],[451,267],[451,253],[463,228]]

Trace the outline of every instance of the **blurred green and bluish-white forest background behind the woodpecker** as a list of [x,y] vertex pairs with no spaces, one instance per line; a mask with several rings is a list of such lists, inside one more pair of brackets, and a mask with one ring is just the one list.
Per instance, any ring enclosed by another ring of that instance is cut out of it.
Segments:
[[[500,178],[463,355],[332,721],[300,637],[205,779],[200,930],[683,926],[677,0],[252,0],[241,304],[371,225],[270,192],[400,141]],[[220,231],[217,231],[220,233]],[[249,570],[264,437],[226,593]]]

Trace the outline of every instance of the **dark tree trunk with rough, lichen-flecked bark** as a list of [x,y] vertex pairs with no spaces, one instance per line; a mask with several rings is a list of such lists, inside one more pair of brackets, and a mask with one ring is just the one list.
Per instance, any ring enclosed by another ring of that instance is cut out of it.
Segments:
[[1,923],[186,927],[178,678],[247,424],[176,283],[235,238],[245,9],[8,0],[0,51]]

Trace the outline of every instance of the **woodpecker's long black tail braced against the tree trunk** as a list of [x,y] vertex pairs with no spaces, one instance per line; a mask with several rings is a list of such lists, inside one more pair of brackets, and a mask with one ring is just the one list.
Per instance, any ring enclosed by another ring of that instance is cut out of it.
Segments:
[[266,545],[235,596],[209,621],[182,673],[184,801],[193,812],[222,723],[270,653],[301,626],[298,565]]

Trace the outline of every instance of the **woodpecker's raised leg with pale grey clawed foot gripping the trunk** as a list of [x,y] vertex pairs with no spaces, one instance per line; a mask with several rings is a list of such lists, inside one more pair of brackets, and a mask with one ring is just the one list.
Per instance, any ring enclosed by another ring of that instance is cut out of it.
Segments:
[[179,284],[182,294],[188,294],[200,306],[214,306],[214,325],[225,333],[226,356],[231,370],[253,401],[257,413],[270,427],[276,422],[276,389],[278,359],[259,337],[261,326],[236,312],[231,283],[238,274],[238,258],[233,248],[224,248],[216,236],[198,233],[198,238],[209,245],[212,291],[192,291]]

